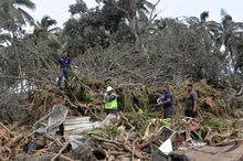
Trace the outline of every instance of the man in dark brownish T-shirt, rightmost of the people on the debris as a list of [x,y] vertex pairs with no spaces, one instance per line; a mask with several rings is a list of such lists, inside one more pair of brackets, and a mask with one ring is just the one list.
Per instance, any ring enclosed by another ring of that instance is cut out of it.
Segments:
[[193,90],[192,84],[188,84],[187,93],[184,116],[194,118],[198,116],[198,95]]

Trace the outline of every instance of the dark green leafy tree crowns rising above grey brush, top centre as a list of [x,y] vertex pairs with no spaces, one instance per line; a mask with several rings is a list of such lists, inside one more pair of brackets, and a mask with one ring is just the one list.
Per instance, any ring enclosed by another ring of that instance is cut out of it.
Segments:
[[80,13],[64,28],[68,35],[67,47],[74,53],[84,53],[97,45],[105,49],[114,43],[135,42],[144,30],[139,25],[148,23],[147,14],[154,7],[145,0],[102,0],[99,3],[104,6],[91,10],[86,10],[83,1],[70,6],[72,14]]

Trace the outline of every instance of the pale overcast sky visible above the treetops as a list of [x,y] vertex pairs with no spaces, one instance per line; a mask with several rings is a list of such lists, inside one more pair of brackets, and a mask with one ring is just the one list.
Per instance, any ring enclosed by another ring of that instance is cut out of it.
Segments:
[[[32,0],[36,4],[35,11],[30,13],[35,20],[41,20],[44,15],[50,15],[57,21],[57,25],[70,18],[68,6],[76,0]],[[95,0],[84,0],[88,8],[95,7]],[[157,0],[149,0],[156,2]],[[228,11],[234,21],[243,22],[243,0],[160,0],[157,12],[162,18],[198,17],[203,11],[209,11],[210,20],[220,21],[221,9]]]

